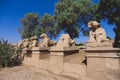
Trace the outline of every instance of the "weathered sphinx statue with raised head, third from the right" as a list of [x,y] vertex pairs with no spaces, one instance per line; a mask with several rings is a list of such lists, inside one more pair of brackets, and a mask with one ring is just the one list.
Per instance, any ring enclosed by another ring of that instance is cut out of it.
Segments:
[[41,34],[40,38],[42,38],[42,41],[39,44],[40,48],[51,47],[51,46],[56,45],[56,43],[57,43],[56,41],[50,40],[49,37],[47,36],[47,34],[45,34],[45,33]]

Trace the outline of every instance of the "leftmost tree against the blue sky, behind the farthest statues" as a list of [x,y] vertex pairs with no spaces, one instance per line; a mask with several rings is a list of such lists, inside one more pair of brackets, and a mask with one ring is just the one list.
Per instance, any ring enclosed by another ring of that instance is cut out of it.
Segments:
[[21,18],[22,27],[19,28],[19,32],[24,38],[30,38],[34,35],[40,35],[40,25],[39,25],[40,16],[39,14],[28,13],[25,15],[25,18]]

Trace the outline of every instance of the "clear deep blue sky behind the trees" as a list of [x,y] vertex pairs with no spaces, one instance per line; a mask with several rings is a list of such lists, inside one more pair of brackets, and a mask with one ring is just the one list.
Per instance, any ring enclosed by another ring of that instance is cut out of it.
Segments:
[[[21,36],[17,29],[21,26],[20,19],[26,13],[34,12],[43,16],[44,13],[54,14],[55,3],[59,0],[0,0],[0,37],[8,40],[11,43],[17,43],[21,40]],[[95,3],[98,0],[94,0]],[[106,30],[106,34],[114,38],[115,34],[112,31],[114,26],[101,22],[101,25]],[[59,37],[57,38],[59,40]],[[88,37],[79,36],[75,39],[76,42],[85,42]]]

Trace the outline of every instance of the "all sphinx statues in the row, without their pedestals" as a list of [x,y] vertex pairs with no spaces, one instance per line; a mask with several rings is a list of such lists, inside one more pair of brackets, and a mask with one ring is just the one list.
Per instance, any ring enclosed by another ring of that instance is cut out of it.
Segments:
[[[112,42],[106,38],[106,32],[97,21],[89,21],[88,27],[90,28],[89,40],[86,42],[88,47],[112,47]],[[59,42],[51,40],[47,34],[40,35],[41,42],[38,41],[37,36],[33,36],[29,39],[23,39],[18,43],[18,47],[21,48],[33,48],[33,47],[70,47],[75,46],[75,40],[70,38],[69,34],[62,34]]]

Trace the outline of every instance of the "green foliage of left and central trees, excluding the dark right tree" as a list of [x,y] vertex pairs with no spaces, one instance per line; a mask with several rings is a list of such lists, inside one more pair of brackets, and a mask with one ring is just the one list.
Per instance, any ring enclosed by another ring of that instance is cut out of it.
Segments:
[[49,37],[55,38],[61,31],[68,33],[71,38],[79,36],[84,32],[83,25],[91,19],[95,5],[91,0],[60,0],[55,6],[53,16],[45,13],[40,18],[39,14],[28,13],[21,19],[22,27],[19,28],[22,39],[34,35],[47,33]]

